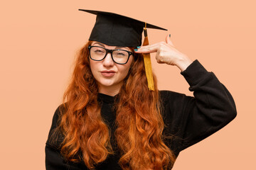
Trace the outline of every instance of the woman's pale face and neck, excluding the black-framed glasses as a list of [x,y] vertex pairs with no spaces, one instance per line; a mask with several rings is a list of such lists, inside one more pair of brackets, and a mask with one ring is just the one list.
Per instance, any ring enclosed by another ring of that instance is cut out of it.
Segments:
[[[91,46],[105,47],[109,50],[119,49],[131,51],[129,47],[108,46],[96,41],[93,41]],[[90,69],[99,86],[99,92],[110,96],[118,94],[133,60],[134,57],[131,55],[126,64],[117,64],[112,60],[110,52],[102,61],[90,59]]]

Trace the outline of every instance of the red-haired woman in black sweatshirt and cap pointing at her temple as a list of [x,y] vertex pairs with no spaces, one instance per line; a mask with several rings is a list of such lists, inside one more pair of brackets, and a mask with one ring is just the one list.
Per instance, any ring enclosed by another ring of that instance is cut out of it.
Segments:
[[[46,169],[171,169],[181,150],[235,118],[225,86],[176,50],[169,36],[137,47],[140,21],[87,12],[97,20],[53,116]],[[194,96],[158,91],[155,76],[155,90],[149,91],[142,55],[149,52],[156,52],[157,62],[181,69]]]

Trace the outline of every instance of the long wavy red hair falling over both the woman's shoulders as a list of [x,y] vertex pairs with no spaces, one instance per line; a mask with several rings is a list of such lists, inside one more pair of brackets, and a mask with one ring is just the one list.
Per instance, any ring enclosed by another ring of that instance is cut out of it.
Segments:
[[[63,157],[72,162],[83,160],[89,169],[94,169],[114,152],[110,130],[100,115],[97,82],[90,70],[87,47],[91,43],[82,47],[75,61],[73,77],[63,96],[65,109],[61,112],[58,129],[64,135]],[[164,121],[159,109],[156,77],[156,90],[149,91],[143,57],[137,54],[134,58],[115,103],[117,129],[114,136],[122,154],[119,164],[122,169],[169,169],[175,156],[162,140]]]

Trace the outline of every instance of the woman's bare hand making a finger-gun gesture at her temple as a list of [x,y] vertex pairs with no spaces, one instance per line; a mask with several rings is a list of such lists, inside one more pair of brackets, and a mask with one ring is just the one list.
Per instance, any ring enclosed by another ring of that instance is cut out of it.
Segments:
[[183,72],[191,63],[192,60],[179,52],[171,42],[169,35],[166,36],[166,42],[158,42],[153,45],[145,45],[139,47],[137,53],[152,53],[156,52],[156,62],[160,64],[175,65]]

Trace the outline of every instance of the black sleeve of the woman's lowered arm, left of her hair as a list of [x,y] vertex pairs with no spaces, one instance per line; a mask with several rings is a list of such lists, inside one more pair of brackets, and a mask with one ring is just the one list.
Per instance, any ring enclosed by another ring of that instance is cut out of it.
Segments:
[[[60,106],[56,109],[53,115],[53,122],[50,127],[50,132],[48,135],[48,140],[46,141],[46,170],[79,170],[87,169],[84,164],[75,164],[72,162],[67,162],[60,154],[60,144],[63,137],[60,133],[55,133],[53,131],[58,125],[58,118],[60,116]],[[53,136],[52,136],[53,135]],[[57,138],[56,138],[57,137]]]

